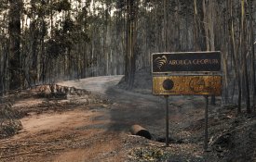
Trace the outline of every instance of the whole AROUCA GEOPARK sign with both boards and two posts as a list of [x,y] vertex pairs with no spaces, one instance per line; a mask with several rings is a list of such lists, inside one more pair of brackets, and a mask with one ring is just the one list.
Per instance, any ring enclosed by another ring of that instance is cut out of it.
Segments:
[[168,95],[204,95],[206,98],[204,149],[208,149],[208,98],[209,95],[222,94],[221,65],[221,53],[218,51],[152,54],[152,93],[164,95],[167,102],[167,146]]

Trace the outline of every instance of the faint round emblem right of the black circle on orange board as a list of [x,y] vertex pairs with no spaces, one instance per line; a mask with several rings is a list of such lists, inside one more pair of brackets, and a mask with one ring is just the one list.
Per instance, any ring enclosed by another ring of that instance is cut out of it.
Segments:
[[189,81],[189,88],[195,93],[202,92],[205,89],[206,83],[200,77],[194,77]]

